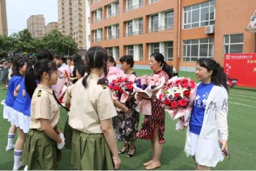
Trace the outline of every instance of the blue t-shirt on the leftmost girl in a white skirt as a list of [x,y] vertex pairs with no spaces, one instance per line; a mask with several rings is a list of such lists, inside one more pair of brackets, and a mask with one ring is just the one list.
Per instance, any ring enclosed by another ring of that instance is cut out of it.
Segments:
[[12,105],[15,100],[15,97],[13,94],[14,90],[16,89],[16,87],[18,86],[18,84],[22,80],[22,78],[23,77],[21,75],[14,75],[14,76],[12,76],[12,78],[9,82],[5,104],[11,108],[12,108]]

